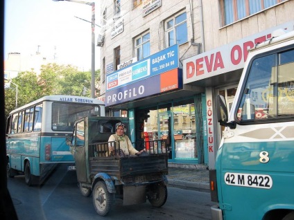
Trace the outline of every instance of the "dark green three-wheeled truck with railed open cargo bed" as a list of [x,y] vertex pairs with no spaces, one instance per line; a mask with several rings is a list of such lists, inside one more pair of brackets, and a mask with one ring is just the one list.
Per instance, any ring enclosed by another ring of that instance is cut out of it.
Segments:
[[[148,144],[145,156],[120,156],[119,141],[108,143],[116,123],[129,127],[128,118],[85,117],[75,122],[70,143],[76,163],[78,186],[83,196],[93,196],[96,212],[105,216],[116,199],[123,205],[146,202],[161,207],[167,199],[168,152],[164,140],[135,143],[138,150]],[[126,134],[130,137],[130,129]],[[112,154],[108,146],[114,146]]]

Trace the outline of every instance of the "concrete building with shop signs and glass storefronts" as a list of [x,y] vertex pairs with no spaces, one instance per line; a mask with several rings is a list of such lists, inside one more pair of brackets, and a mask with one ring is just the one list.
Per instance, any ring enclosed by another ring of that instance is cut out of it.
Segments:
[[248,49],[293,30],[294,1],[101,1],[101,99],[128,112],[132,141],[166,140],[169,163],[214,167],[221,128]]

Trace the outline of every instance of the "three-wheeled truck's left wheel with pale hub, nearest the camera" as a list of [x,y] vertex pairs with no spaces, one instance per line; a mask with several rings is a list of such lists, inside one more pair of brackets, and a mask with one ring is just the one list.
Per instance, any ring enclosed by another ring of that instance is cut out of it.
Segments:
[[105,216],[110,212],[114,204],[114,194],[107,191],[107,187],[103,181],[98,181],[93,190],[93,205],[96,212]]

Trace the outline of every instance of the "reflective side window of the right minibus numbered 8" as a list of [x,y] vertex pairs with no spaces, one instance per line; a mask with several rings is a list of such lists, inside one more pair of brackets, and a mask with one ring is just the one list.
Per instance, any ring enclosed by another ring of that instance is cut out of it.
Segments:
[[242,122],[293,116],[293,69],[294,50],[254,59],[237,119]]

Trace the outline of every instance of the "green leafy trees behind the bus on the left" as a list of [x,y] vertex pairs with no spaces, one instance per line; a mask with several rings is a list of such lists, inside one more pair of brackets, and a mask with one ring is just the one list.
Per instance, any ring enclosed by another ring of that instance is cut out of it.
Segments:
[[[41,67],[37,75],[33,70],[19,73],[12,79],[17,84],[17,107],[42,98],[45,95],[81,95],[91,97],[91,71],[80,72],[74,66],[46,64]],[[95,84],[100,83],[100,70],[95,72]],[[5,113],[6,116],[15,109],[16,87],[15,84],[6,84]],[[86,89],[83,95],[83,88]],[[96,94],[99,91],[96,89]]]

